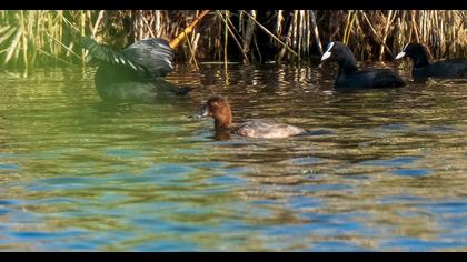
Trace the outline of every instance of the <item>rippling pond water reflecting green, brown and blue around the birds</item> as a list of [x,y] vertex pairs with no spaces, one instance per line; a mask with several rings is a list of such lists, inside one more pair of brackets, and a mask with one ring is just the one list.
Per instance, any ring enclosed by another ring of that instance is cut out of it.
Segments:
[[[467,83],[337,92],[335,75],[179,67],[188,98],[110,105],[92,69],[1,73],[0,250],[466,251]],[[188,118],[213,93],[235,121],[317,132],[215,140]]]

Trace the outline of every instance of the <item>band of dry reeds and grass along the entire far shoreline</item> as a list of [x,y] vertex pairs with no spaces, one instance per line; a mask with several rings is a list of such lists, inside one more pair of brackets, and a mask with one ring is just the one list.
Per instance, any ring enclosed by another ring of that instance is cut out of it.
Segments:
[[[203,10],[0,10],[3,69],[85,67],[82,36],[116,51],[145,38],[171,41]],[[210,10],[176,48],[176,62],[318,61],[327,42],[358,60],[390,61],[408,42],[431,59],[466,57],[466,10]]]

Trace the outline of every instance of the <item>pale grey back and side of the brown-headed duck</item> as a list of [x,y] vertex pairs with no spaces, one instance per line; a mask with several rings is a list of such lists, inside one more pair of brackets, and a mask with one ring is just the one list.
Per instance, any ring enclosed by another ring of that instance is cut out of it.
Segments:
[[268,120],[252,120],[235,128],[235,133],[249,138],[287,138],[305,134],[305,129]]

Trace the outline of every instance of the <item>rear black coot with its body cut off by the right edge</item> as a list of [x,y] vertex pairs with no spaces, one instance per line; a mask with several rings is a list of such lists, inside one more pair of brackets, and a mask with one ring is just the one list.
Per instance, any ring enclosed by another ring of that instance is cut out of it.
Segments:
[[430,63],[426,48],[419,43],[408,43],[396,59],[404,57],[409,57],[414,62],[411,69],[414,80],[467,78],[467,59],[447,59]]

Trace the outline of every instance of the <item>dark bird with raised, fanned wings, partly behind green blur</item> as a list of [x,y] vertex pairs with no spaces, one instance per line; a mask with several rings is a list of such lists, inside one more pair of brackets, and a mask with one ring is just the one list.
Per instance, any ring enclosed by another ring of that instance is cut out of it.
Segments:
[[102,100],[151,101],[182,97],[191,91],[191,88],[178,88],[163,80],[173,69],[173,50],[163,39],[140,40],[121,52],[87,37],[82,38],[81,46],[101,61],[95,83]]

